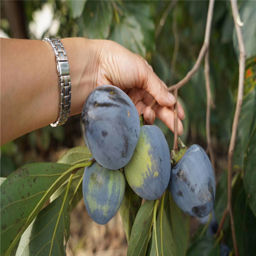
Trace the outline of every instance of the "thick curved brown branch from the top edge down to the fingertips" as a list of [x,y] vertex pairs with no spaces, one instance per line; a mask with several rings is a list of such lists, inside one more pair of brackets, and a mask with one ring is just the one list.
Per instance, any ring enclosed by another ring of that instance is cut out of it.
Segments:
[[[208,50],[209,48],[209,42],[210,42],[210,33],[211,33],[211,24],[212,24],[212,16],[213,16],[213,8],[214,8],[214,0],[210,0],[209,2],[209,7],[208,7],[208,13],[207,13],[207,21],[206,21],[206,28],[205,28],[205,34],[204,34],[204,42],[203,42],[203,46],[199,52],[197,61],[194,65],[194,67],[186,74],[186,76],[177,84],[174,84],[172,86],[170,86],[167,90],[168,91],[173,91],[174,89],[180,89],[183,85],[185,85],[190,78],[196,73],[196,71],[198,70],[200,63],[203,59],[203,56],[205,54],[205,52]],[[154,99],[150,106],[153,109],[156,106],[157,102]]]

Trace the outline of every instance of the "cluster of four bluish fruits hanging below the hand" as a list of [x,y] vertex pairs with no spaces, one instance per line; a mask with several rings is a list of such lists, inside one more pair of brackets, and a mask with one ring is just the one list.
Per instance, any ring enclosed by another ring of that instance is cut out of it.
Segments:
[[140,126],[135,105],[121,89],[103,85],[91,91],[81,130],[96,160],[83,176],[85,206],[96,223],[106,224],[116,214],[126,180],[144,199],[159,198],[169,186],[184,212],[202,217],[212,210],[215,180],[203,149],[191,146],[171,169],[165,136],[157,126]]

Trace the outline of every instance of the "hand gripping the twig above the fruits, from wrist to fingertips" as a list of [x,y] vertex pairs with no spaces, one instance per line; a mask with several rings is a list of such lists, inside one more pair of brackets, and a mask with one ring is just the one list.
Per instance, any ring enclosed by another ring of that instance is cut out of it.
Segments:
[[[152,124],[155,117],[158,117],[174,132],[175,97],[167,91],[167,86],[147,61],[113,41],[99,40],[98,43],[101,45],[101,53],[94,86],[108,84],[119,87],[132,99],[139,115],[143,113],[146,124]],[[149,105],[154,98],[159,105],[151,110]],[[180,119],[185,117],[185,113],[179,102],[178,117],[180,135],[183,133]]]

